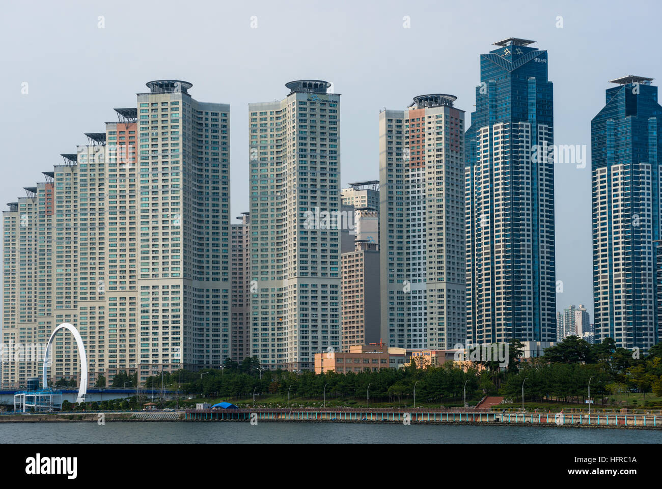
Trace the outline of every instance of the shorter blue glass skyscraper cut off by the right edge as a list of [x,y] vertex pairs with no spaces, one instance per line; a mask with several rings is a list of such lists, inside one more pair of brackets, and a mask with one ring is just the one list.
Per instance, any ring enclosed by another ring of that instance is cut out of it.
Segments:
[[591,121],[593,298],[596,341],[657,343],[662,107],[652,78],[612,80]]

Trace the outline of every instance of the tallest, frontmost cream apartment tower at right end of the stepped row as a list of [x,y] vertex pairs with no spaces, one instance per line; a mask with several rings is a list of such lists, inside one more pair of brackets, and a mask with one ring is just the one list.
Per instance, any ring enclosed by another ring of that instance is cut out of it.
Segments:
[[141,378],[230,356],[230,106],[196,101],[185,81],[147,86],[138,94]]

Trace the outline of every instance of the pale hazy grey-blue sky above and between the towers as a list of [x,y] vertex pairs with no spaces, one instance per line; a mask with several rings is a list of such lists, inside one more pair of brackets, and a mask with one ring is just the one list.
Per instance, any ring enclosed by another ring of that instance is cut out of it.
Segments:
[[[479,55],[510,36],[549,52],[555,144],[585,144],[590,155],[608,80],[662,77],[661,10],[610,0],[3,2],[0,202],[6,209],[43,181],[154,79],[190,81],[193,98],[230,104],[233,222],[248,210],[247,105],[282,99],[287,81],[334,83],[342,185],[378,179],[379,109],[451,93],[468,127]],[[592,320],[590,159],[583,169],[557,165],[555,184],[557,308],[583,303]]]

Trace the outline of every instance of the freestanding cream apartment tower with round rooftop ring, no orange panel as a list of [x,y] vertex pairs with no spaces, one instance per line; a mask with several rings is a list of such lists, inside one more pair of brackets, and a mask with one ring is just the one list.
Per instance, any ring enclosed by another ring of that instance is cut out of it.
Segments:
[[330,85],[292,81],[285,99],[249,104],[251,353],[269,369],[312,370],[340,348],[340,230],[322,214],[340,208]]

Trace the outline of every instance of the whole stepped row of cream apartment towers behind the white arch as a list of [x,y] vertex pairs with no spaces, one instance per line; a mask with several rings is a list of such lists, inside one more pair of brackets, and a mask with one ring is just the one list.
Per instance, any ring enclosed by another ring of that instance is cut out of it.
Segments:
[[[230,354],[229,106],[195,101],[184,81],[147,86],[3,212],[3,343],[71,323],[90,384]],[[58,333],[53,380],[79,375],[71,343]],[[3,386],[40,367],[3,362]]]

